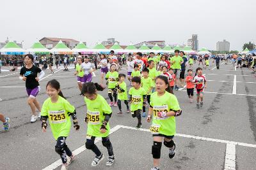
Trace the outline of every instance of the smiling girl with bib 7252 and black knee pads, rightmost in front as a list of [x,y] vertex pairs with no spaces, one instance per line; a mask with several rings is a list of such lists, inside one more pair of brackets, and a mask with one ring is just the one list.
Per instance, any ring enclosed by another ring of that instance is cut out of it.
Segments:
[[166,76],[157,76],[156,92],[150,97],[147,118],[147,122],[153,119],[150,127],[153,135],[152,155],[154,167],[152,170],[159,170],[162,143],[169,149],[170,159],[174,157],[176,149],[173,141],[176,133],[175,117],[181,113],[179,102],[172,94],[172,89],[170,89]]

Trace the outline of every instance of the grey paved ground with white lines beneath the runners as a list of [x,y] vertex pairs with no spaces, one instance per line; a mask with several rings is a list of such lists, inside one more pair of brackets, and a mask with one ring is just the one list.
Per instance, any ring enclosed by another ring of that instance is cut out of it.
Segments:
[[[197,66],[197,64],[196,64]],[[7,69],[3,67],[2,69]],[[195,70],[195,68],[194,68]],[[116,162],[113,167],[90,166],[93,153],[85,150],[86,125],[83,122],[86,106],[83,97],[78,96],[74,69],[62,69],[55,74],[45,71],[40,81],[41,92],[37,99],[42,104],[47,98],[45,85],[56,78],[68,101],[74,104],[81,131],[71,130],[67,145],[78,154],[70,169],[150,169],[152,167],[152,136],[148,132],[150,124],[143,118],[143,129],[136,131],[136,119],[130,114],[116,115],[117,107],[112,107],[111,142]],[[122,70],[121,72],[126,72]],[[99,71],[93,81],[99,81]],[[183,115],[177,118],[177,155],[170,160],[168,150],[162,147],[161,169],[255,169],[256,155],[256,77],[248,69],[236,69],[221,64],[220,70],[211,66],[204,71],[208,86],[204,94],[204,107],[198,110],[190,104],[186,88],[175,91]],[[31,124],[30,108],[26,104],[24,81],[19,73],[4,71],[0,74],[1,113],[11,118],[12,128],[0,131],[0,169],[54,169],[60,165],[60,157],[55,153],[55,141],[51,130],[42,133],[40,121]],[[235,79],[235,81],[234,81]],[[106,90],[100,92],[108,95]],[[124,106],[123,106],[124,107]],[[106,148],[97,143],[105,156]],[[58,167],[60,169],[60,167]]]

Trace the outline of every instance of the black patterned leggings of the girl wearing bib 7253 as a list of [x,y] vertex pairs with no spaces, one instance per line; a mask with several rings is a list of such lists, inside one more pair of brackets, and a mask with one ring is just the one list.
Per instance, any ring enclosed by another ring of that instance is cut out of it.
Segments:
[[67,137],[60,136],[55,146],[55,151],[60,155],[63,164],[67,163],[67,155],[68,157],[72,156],[72,152],[66,145],[66,139]]

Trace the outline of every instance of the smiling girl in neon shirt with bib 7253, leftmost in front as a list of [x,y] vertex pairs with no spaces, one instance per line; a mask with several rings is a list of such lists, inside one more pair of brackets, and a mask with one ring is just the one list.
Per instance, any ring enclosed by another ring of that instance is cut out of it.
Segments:
[[[79,130],[76,110],[66,99],[60,90],[60,83],[57,80],[51,80],[46,85],[46,92],[49,96],[42,106],[42,131],[46,132],[47,118],[51,125],[52,135],[56,140],[55,151],[62,160],[61,170],[68,169],[68,165],[75,159],[74,153],[70,151],[66,144],[66,139],[70,132],[71,121],[73,119],[74,128]],[[70,158],[67,159],[67,156]]]

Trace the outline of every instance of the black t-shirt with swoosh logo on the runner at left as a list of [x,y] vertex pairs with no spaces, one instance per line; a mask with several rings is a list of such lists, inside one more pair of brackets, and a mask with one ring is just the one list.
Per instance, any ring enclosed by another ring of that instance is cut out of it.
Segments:
[[42,70],[39,67],[33,65],[30,69],[27,69],[26,66],[20,69],[20,75],[24,75],[26,80],[26,88],[27,89],[35,89],[38,87],[39,83],[36,81],[37,73],[40,73]]

